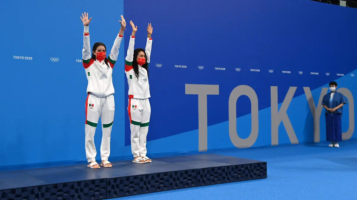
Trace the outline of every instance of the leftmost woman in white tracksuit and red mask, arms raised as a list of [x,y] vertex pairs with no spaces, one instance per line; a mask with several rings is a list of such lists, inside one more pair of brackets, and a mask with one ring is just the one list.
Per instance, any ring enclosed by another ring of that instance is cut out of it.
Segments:
[[[82,18],[83,17],[83,18]],[[114,121],[114,86],[112,82],[112,72],[118,58],[120,43],[123,38],[126,22],[121,16],[121,29],[115,38],[114,45],[109,56],[106,56],[106,46],[101,42],[96,42],[90,49],[88,13],[82,14],[81,20],[84,25],[82,62],[88,80],[87,100],[86,100],[86,122],[85,122],[85,149],[88,161],[87,167],[100,168],[112,167],[108,161],[110,154],[110,134]],[[105,32],[105,29],[104,29]],[[92,54],[92,56],[91,56]],[[99,117],[102,121],[102,143],[100,146],[101,164],[95,161],[96,149],[94,145],[94,134]]]

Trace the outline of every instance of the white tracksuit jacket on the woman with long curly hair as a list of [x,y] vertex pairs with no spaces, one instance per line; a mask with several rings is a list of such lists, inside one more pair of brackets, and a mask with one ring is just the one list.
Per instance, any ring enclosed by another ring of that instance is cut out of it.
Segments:
[[[134,69],[132,67],[132,62],[134,59],[134,44],[135,37],[131,36],[127,55],[125,58],[125,74],[129,84],[128,95],[129,99],[147,99],[150,98],[150,86],[147,71],[146,69],[139,66],[139,80],[137,80],[134,74]],[[147,56],[146,63],[148,67],[150,63],[151,46],[152,38],[147,38],[145,53]]]

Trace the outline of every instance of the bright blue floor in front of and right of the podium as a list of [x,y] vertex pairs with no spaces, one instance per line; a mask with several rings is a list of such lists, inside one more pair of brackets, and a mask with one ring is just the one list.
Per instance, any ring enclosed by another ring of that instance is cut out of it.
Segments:
[[130,196],[125,199],[319,200],[357,199],[357,141],[215,152],[267,161],[268,178]]

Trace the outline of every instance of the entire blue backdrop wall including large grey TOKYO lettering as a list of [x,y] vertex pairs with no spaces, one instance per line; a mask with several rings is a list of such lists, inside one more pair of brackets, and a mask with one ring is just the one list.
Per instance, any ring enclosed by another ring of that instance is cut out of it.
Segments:
[[[86,160],[82,12],[93,17],[91,45],[110,48],[120,15],[128,22],[114,68],[112,158],[131,157],[130,20],[138,26],[135,48],[145,47],[147,23],[154,27],[148,156],[324,141],[320,98],[332,80],[349,100],[343,137],[356,138],[356,41],[348,39],[357,34],[355,9],[283,0],[105,4],[106,12],[96,2],[0,3],[2,168]],[[97,128],[98,150],[100,140]]]

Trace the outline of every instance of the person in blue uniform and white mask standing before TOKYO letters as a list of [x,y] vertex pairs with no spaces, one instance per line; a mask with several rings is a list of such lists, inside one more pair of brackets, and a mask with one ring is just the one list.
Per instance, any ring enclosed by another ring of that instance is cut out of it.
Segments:
[[347,98],[336,91],[335,81],[332,81],[329,87],[331,92],[323,96],[321,103],[326,109],[326,140],[331,141],[329,147],[340,147],[338,142],[342,141],[342,106],[347,103]]

